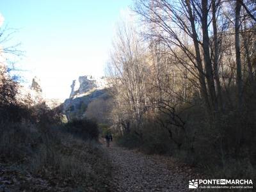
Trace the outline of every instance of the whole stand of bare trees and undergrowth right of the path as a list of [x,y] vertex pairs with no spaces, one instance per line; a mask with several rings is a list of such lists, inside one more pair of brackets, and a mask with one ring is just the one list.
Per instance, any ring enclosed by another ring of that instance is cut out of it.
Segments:
[[255,178],[255,2],[138,0],[134,13],[109,63],[119,143]]

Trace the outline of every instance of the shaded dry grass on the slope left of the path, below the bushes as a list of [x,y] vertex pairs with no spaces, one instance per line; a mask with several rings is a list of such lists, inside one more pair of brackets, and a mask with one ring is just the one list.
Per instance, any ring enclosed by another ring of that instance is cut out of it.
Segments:
[[21,164],[33,177],[48,180],[56,188],[106,191],[111,164],[97,141],[83,141],[60,131],[61,127],[40,128],[2,124],[1,162]]

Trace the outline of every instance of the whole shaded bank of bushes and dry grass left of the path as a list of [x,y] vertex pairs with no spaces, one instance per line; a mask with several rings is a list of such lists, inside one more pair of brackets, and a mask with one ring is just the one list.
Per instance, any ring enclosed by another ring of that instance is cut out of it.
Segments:
[[61,122],[44,104],[16,100],[17,83],[5,72],[0,84],[0,184],[11,191],[106,191],[108,154],[95,122]]

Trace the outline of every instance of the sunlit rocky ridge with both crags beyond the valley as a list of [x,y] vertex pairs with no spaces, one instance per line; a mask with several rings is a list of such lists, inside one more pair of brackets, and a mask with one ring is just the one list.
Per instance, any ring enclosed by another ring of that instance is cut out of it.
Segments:
[[[99,106],[107,110],[105,104],[109,103],[108,86],[106,83],[106,77],[95,78],[92,76],[80,76],[78,79],[72,81],[70,86],[70,97],[61,104],[58,99],[47,99],[44,97],[44,90],[40,85],[40,79],[34,77],[29,88],[20,86],[19,88],[19,100],[23,100],[26,104],[35,106],[37,104],[45,104],[45,106],[53,109],[58,108],[63,111],[63,114],[68,120],[73,118],[84,118],[100,116]],[[90,106],[90,113],[88,112],[88,106]],[[93,106],[94,105],[94,106]],[[92,114],[93,108],[93,114]],[[87,110],[87,111],[86,111]],[[98,115],[95,115],[95,111],[99,111]],[[104,112],[105,113],[105,112]],[[93,117],[94,118],[94,117]]]

